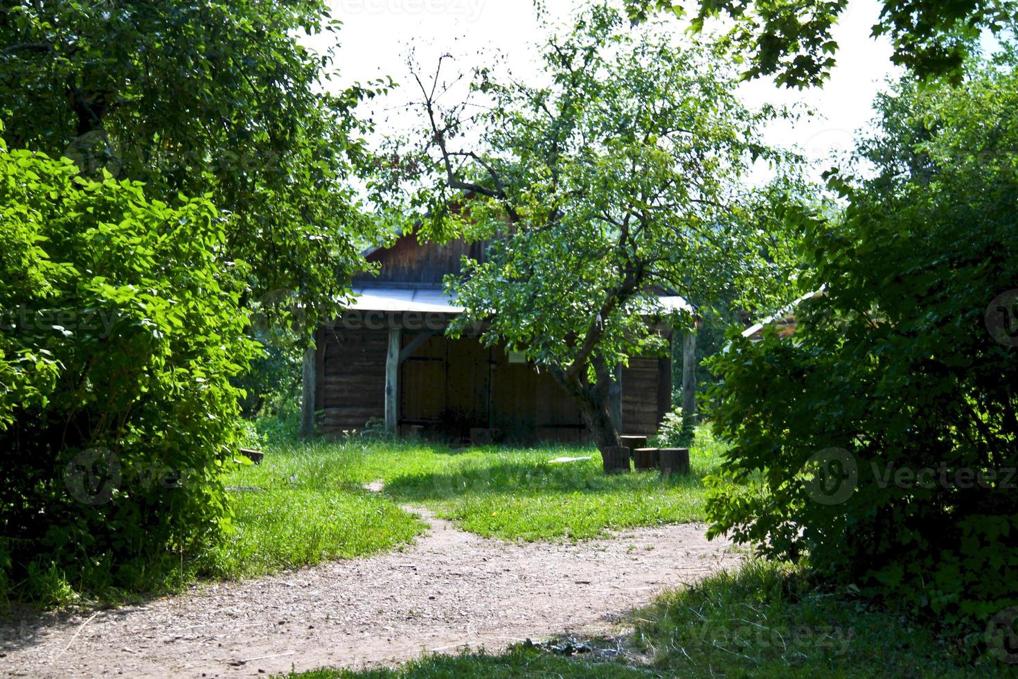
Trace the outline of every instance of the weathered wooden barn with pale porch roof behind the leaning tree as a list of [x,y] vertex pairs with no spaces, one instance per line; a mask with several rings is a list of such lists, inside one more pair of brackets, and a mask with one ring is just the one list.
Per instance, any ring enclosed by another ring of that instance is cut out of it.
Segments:
[[[305,407],[314,406],[321,432],[339,435],[378,419],[399,435],[466,438],[487,430],[521,443],[587,440],[579,410],[547,372],[522,354],[484,346],[475,334],[445,336],[462,308],[443,292],[442,278],[459,270],[463,254],[480,259],[483,248],[408,235],[369,251],[381,272],[354,280],[354,304],[318,330],[314,367],[305,360],[304,389],[314,393]],[[678,297],[662,302],[685,306]],[[621,432],[657,432],[671,407],[671,376],[670,358],[630,359],[612,404]]]

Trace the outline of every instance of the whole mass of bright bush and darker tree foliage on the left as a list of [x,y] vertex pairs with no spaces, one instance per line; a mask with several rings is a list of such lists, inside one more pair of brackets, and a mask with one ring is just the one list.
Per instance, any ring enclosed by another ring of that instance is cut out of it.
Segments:
[[297,37],[337,27],[316,0],[0,2],[0,598],[178,583],[229,532],[238,403],[289,432],[280,376],[384,236],[349,179],[386,86],[330,91]]

